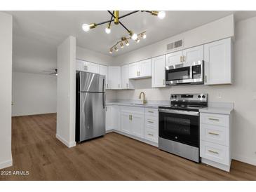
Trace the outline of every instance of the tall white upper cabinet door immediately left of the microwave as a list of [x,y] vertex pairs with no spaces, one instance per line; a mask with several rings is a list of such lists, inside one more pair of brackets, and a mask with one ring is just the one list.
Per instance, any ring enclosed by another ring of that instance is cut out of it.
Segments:
[[162,55],[152,59],[152,88],[164,88],[166,56]]

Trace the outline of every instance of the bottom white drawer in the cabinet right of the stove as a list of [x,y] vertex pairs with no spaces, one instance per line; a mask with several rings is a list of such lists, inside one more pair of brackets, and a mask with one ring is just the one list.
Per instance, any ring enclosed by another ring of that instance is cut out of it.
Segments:
[[217,163],[229,165],[229,146],[200,141],[200,156]]

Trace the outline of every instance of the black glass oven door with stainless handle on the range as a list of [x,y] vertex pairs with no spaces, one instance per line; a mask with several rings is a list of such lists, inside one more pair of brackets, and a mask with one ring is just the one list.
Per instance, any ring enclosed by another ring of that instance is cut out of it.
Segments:
[[159,109],[159,137],[199,147],[199,113]]

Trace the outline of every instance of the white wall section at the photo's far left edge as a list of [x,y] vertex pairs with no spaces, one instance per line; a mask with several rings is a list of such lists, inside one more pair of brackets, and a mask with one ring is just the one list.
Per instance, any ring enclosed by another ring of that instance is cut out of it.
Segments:
[[11,154],[11,76],[13,18],[0,12],[0,169],[13,165]]

